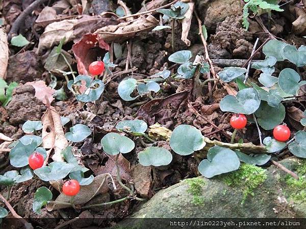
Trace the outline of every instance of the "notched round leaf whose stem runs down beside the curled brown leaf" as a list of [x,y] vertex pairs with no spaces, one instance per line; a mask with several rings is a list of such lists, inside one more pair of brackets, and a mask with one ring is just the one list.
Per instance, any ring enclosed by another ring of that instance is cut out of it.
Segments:
[[101,139],[103,150],[109,155],[125,154],[131,152],[134,141],[117,133],[108,133]]

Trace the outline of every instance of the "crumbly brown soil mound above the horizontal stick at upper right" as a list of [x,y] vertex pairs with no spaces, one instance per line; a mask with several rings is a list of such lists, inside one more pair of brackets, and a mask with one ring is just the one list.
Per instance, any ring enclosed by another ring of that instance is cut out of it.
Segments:
[[[226,17],[218,23],[216,34],[211,35],[208,50],[212,59],[249,58],[253,36],[241,26],[242,16]],[[255,56],[254,59],[259,58]]]

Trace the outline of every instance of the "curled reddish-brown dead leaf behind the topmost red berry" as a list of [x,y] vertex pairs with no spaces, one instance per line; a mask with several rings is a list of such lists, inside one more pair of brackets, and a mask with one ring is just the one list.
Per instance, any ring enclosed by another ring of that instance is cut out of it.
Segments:
[[82,39],[72,46],[75,59],[78,62],[79,74],[88,74],[88,67],[98,57],[103,59],[110,46],[98,38],[96,34],[85,34]]

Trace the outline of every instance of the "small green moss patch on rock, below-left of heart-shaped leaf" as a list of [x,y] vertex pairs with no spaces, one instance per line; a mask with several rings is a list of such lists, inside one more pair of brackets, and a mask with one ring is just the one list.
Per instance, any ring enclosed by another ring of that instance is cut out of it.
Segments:
[[191,203],[197,206],[204,205],[204,198],[202,196],[203,186],[206,185],[206,182],[201,178],[192,178],[187,179],[186,182],[189,185],[187,192],[192,195]]

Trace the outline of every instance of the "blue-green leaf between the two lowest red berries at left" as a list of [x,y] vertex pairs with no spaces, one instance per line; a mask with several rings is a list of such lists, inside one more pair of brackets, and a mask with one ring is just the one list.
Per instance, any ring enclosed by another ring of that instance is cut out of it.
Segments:
[[56,181],[65,178],[73,168],[73,164],[54,161],[49,166],[42,166],[35,169],[34,174],[43,181]]

